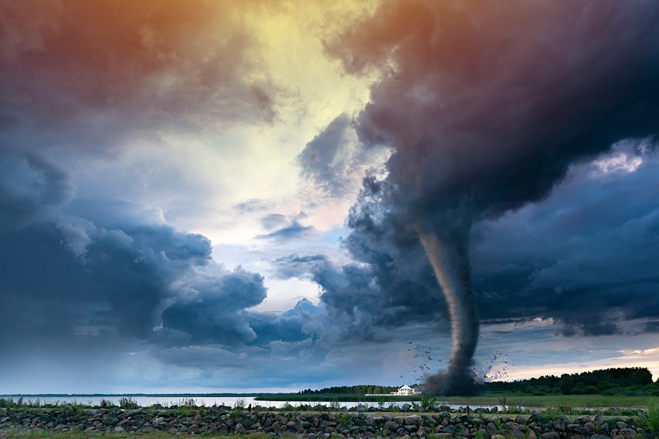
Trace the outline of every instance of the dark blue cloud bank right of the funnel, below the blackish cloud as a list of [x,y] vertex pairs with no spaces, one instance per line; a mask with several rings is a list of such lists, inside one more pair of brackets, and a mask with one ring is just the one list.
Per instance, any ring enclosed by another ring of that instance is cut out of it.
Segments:
[[[542,316],[577,335],[633,332],[625,320],[659,315],[659,156],[635,146],[573,168],[542,203],[476,226],[483,318]],[[602,172],[606,163],[617,169]]]

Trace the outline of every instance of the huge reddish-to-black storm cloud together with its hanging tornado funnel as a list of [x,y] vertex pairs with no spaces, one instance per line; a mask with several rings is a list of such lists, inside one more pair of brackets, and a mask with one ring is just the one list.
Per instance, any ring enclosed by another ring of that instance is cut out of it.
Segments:
[[393,147],[381,215],[416,230],[443,289],[448,392],[466,390],[451,383],[470,380],[479,334],[472,224],[546,197],[616,141],[658,132],[658,18],[651,1],[385,1],[327,44],[349,73],[381,75],[357,133]]

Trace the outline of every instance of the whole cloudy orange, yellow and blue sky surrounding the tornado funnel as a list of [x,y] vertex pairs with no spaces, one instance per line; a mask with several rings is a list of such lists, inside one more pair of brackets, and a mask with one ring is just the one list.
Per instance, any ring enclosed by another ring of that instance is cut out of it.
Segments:
[[[0,0],[0,394],[659,378],[659,5]],[[451,253],[452,252],[452,253]]]

